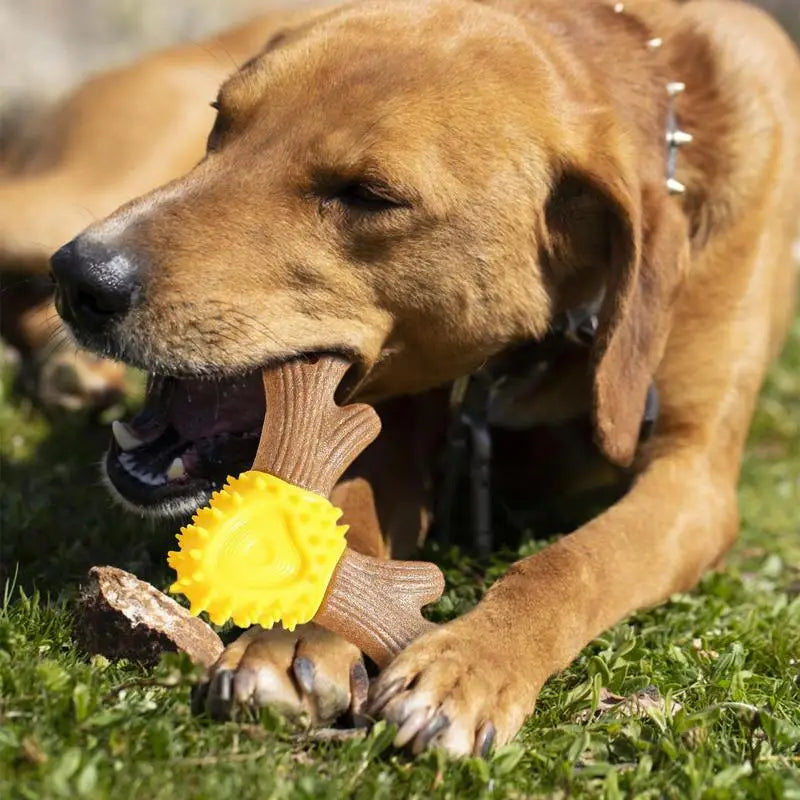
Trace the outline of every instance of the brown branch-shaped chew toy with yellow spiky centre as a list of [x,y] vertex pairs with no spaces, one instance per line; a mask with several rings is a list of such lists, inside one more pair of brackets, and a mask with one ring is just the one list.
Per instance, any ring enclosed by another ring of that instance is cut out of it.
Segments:
[[337,406],[348,368],[333,356],[265,370],[267,411],[253,468],[228,478],[178,535],[172,592],[222,624],[293,630],[313,619],[385,666],[432,623],[420,608],[444,577],[433,564],[388,561],[346,546],[342,512],[327,499],[378,435],[367,405]]

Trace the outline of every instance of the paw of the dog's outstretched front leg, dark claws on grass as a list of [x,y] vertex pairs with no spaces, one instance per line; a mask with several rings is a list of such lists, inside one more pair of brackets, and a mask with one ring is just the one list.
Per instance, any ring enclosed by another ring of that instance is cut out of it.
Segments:
[[532,711],[537,689],[508,643],[463,622],[413,642],[373,683],[368,711],[398,726],[396,746],[486,755]]

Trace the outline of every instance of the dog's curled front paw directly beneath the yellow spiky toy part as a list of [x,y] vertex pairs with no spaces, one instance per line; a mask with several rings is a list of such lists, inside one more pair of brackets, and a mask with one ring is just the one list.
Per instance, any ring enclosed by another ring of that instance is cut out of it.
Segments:
[[313,623],[250,628],[230,644],[192,698],[195,712],[230,719],[270,706],[314,725],[360,718],[369,679],[358,648]]

